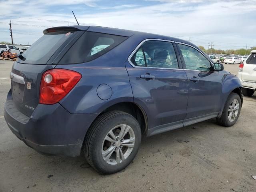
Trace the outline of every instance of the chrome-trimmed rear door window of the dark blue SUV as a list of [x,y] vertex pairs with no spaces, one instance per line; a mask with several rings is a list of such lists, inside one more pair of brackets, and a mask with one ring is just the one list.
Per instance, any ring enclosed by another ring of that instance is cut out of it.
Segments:
[[[146,60],[145,60],[146,59]],[[171,42],[146,41],[131,59],[135,66],[178,69],[178,60]]]

